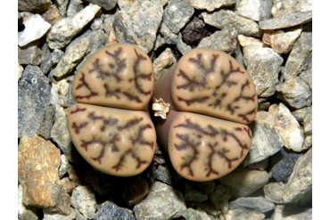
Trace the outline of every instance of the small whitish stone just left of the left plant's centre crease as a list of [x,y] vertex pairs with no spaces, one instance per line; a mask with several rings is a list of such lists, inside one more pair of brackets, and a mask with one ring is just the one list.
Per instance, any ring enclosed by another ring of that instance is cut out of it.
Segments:
[[50,102],[51,104],[61,105],[63,107],[68,107],[69,100],[69,83],[66,79],[54,82],[51,88]]

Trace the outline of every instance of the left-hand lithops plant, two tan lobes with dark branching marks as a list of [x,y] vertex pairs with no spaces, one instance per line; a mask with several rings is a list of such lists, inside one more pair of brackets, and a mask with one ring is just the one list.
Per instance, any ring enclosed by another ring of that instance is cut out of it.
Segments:
[[153,64],[134,45],[106,45],[78,69],[68,112],[70,137],[93,167],[138,175],[153,159],[156,134],[148,111]]

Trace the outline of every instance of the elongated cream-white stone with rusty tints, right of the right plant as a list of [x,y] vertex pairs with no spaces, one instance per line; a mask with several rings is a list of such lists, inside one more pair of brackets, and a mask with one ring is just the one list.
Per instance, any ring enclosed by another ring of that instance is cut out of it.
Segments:
[[273,104],[268,111],[275,115],[275,129],[280,135],[285,148],[293,151],[302,151],[302,144],[305,139],[303,129],[298,121],[293,117],[290,110],[281,102]]

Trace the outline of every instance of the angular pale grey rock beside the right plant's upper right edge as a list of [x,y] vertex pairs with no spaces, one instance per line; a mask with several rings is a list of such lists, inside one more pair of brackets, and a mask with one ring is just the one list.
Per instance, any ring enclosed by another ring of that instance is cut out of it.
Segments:
[[256,45],[244,46],[243,54],[246,70],[252,77],[258,96],[275,94],[283,58],[271,48]]

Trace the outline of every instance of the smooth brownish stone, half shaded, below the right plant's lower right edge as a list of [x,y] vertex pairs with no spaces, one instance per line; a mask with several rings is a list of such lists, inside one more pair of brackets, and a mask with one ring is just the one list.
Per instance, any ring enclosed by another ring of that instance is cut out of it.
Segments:
[[230,191],[231,199],[250,195],[268,183],[268,173],[260,170],[236,168],[233,172],[219,178],[219,182]]

